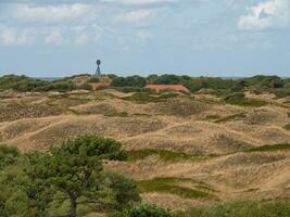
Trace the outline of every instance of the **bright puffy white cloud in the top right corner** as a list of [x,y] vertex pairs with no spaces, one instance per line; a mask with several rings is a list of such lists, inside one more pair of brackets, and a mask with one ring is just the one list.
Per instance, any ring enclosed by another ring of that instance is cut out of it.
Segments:
[[241,16],[238,27],[245,30],[266,30],[285,28],[290,25],[290,1],[269,0],[251,7],[249,13]]

